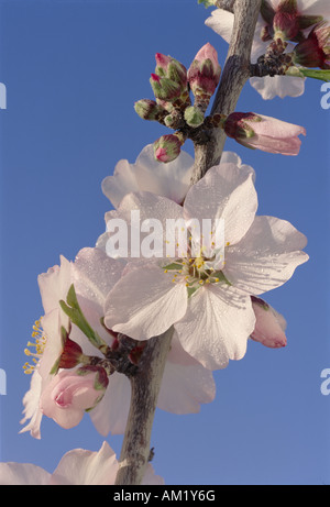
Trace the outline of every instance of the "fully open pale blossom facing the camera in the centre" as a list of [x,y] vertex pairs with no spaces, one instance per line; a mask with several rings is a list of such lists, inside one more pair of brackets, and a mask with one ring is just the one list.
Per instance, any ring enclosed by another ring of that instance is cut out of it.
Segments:
[[[198,255],[129,262],[123,276],[106,300],[108,328],[136,340],[158,335],[174,326],[183,349],[210,370],[240,360],[255,328],[251,295],[282,286],[308,255],[306,238],[290,223],[273,217],[256,217],[257,197],[252,168],[221,164],[193,186],[183,207],[150,192],[128,195],[107,220],[132,210],[141,219],[187,224]],[[213,246],[213,227],[206,242],[196,236],[196,220],[224,222],[224,255]],[[190,227],[190,229],[189,229]],[[103,247],[107,233],[98,245]],[[166,243],[168,238],[163,238]],[[194,249],[195,250],[195,249]]]

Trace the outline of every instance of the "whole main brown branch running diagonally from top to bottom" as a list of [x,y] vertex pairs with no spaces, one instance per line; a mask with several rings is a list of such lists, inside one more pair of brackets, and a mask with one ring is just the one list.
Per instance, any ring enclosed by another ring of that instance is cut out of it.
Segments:
[[[224,2],[222,2],[224,4]],[[234,111],[241,90],[250,77],[250,55],[261,0],[240,0],[234,3],[234,27],[211,114]],[[196,163],[191,183],[220,161],[226,135],[212,129],[206,144],[195,143]],[[173,328],[147,341],[138,373],[131,379],[132,395],[129,420],[120,455],[117,485],[139,485],[150,456],[150,442],[157,397],[173,337]]]

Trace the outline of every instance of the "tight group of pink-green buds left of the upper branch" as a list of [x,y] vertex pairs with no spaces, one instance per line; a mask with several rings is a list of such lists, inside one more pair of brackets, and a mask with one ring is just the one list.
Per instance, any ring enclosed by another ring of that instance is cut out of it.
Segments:
[[[150,82],[155,100],[135,102],[136,113],[144,120],[158,121],[174,129],[154,143],[156,161],[168,163],[180,153],[188,136],[197,134],[205,121],[205,112],[218,86],[221,67],[216,49],[206,44],[197,53],[189,69],[173,58],[157,53],[155,73]],[[194,95],[194,104],[189,95]]]

